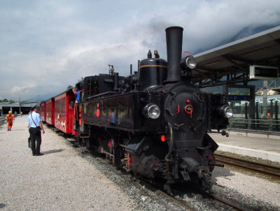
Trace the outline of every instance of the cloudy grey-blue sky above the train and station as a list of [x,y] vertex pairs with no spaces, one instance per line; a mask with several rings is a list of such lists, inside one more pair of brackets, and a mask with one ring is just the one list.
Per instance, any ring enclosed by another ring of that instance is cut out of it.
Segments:
[[183,27],[183,51],[209,50],[245,27],[280,24],[280,1],[0,0],[0,100],[60,94],[81,78],[120,75]]

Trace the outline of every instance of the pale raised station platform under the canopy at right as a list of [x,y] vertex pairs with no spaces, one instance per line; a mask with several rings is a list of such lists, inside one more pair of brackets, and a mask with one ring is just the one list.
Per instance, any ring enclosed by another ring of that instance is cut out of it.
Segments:
[[230,131],[229,137],[209,133],[218,150],[280,163],[280,136]]

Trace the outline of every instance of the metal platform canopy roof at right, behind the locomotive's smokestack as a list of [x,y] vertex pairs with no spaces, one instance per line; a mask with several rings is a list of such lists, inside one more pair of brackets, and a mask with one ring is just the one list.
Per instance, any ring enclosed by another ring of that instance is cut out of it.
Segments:
[[247,84],[250,65],[280,65],[280,26],[194,55],[193,82],[200,87]]

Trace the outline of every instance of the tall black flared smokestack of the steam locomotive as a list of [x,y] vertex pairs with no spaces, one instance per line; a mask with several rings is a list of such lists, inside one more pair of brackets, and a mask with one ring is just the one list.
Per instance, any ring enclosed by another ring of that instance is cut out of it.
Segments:
[[182,55],[182,27],[169,27],[165,29],[167,37],[167,80],[168,82],[177,82],[181,78],[180,61]]

